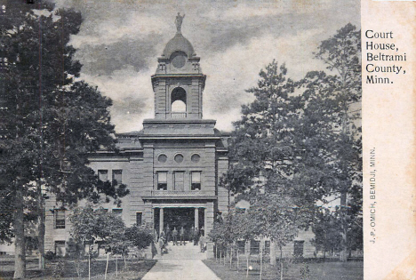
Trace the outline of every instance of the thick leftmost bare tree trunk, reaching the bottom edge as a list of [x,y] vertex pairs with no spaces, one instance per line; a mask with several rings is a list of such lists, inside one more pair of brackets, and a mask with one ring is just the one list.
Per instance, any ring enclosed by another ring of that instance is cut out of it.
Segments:
[[26,242],[23,212],[23,187],[16,183],[16,194],[14,197],[14,279],[21,279],[26,276]]

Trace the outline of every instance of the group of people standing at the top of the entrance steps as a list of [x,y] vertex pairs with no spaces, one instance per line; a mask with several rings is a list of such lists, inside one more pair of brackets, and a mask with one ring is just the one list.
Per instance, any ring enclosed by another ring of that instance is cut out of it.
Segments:
[[[169,228],[169,226],[166,226],[166,228],[162,230],[159,236],[159,247],[160,247],[161,253],[167,252],[166,245],[171,241],[171,237],[173,240],[173,246],[175,245],[178,246],[178,237],[180,240],[179,245],[182,245],[182,244],[185,245],[186,235],[187,235],[187,231],[185,228],[183,228],[183,226],[180,227],[180,230],[174,227],[172,231],[171,231],[171,228]],[[205,252],[206,241],[205,241],[205,236],[204,236],[204,227],[202,227],[201,229],[190,228],[188,237],[189,237],[188,240],[191,243],[193,242],[194,246],[199,244],[201,252]]]

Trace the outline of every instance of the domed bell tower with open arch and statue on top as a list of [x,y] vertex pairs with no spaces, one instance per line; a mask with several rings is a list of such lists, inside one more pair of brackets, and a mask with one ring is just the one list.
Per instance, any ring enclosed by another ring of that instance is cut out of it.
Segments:
[[194,47],[181,33],[182,20],[176,16],[176,34],[157,59],[152,85],[156,119],[196,120],[203,117],[203,92],[206,76],[199,66]]

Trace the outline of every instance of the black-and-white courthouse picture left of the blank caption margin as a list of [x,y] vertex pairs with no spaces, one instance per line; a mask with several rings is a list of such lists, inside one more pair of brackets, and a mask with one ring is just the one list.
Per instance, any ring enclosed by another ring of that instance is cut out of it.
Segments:
[[364,279],[361,1],[0,0],[0,27],[1,280]]

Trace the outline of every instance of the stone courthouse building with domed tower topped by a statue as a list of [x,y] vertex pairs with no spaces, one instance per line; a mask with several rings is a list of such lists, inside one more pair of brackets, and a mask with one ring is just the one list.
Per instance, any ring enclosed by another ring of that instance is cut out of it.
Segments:
[[[215,129],[215,120],[203,118],[206,76],[178,23],[177,30],[151,76],[155,117],[144,120],[140,132],[118,134],[119,152],[92,155],[91,167],[100,180],[129,188],[123,208],[108,209],[127,226],[150,223],[158,233],[166,225],[204,227],[206,235],[214,218],[228,212],[228,191],[219,186],[228,169],[228,136]],[[53,199],[46,202],[45,252],[64,253],[68,212],[55,207]],[[207,249],[212,252],[212,244]]]

